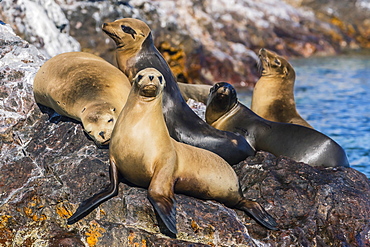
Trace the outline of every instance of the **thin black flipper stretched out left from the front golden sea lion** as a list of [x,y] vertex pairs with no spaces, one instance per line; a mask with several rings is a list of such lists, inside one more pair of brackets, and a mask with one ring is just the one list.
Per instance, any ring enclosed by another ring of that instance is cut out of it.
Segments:
[[110,161],[109,166],[110,184],[101,192],[93,195],[91,198],[83,201],[77,208],[76,212],[67,220],[68,225],[72,225],[88,215],[91,211],[97,208],[100,204],[118,194],[118,169],[114,161]]

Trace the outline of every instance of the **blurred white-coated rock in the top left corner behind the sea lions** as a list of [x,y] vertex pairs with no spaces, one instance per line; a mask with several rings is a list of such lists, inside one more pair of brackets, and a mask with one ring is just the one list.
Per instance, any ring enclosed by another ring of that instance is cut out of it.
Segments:
[[54,0],[4,0],[0,16],[47,57],[81,49],[69,35],[69,21]]

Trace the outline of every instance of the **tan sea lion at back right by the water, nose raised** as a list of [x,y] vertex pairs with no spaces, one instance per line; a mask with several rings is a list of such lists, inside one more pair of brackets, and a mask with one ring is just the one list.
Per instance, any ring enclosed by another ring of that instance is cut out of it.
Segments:
[[260,49],[258,66],[262,70],[252,96],[251,110],[260,117],[281,123],[312,128],[297,112],[294,100],[295,71],[276,53]]

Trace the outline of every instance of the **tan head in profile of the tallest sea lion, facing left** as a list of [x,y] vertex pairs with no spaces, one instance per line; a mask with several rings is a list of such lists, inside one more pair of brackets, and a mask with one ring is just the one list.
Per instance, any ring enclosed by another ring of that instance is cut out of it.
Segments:
[[103,31],[116,42],[117,48],[140,47],[150,34],[148,25],[134,18],[123,18],[104,23]]

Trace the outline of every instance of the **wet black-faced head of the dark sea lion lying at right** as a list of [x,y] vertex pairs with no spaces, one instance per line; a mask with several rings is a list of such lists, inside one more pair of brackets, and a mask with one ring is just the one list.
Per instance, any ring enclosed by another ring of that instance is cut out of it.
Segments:
[[216,83],[209,92],[206,108],[206,122],[211,124],[238,102],[235,88],[227,82]]

